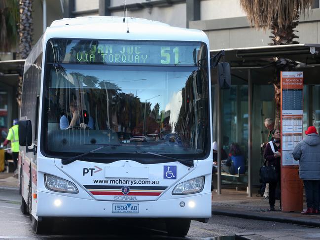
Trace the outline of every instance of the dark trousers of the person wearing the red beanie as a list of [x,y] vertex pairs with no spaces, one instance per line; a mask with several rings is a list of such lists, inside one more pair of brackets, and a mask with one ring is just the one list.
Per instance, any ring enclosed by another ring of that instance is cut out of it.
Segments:
[[308,208],[319,208],[320,180],[303,180]]

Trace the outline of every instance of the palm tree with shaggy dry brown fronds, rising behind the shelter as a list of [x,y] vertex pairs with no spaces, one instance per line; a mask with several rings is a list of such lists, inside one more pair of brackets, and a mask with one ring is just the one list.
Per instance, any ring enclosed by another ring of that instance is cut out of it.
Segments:
[[[314,0],[240,0],[251,26],[257,29],[270,29],[273,36],[270,45],[297,44],[294,28],[299,15],[306,15],[312,9]],[[275,58],[276,117],[275,129],[280,129],[280,71],[290,71],[296,64],[288,59]]]

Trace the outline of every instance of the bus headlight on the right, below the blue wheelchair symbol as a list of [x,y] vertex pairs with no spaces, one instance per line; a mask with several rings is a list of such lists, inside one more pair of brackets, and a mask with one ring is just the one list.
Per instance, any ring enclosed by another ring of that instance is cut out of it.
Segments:
[[172,194],[192,194],[199,193],[202,191],[205,184],[205,177],[193,178],[189,181],[178,184],[172,191]]

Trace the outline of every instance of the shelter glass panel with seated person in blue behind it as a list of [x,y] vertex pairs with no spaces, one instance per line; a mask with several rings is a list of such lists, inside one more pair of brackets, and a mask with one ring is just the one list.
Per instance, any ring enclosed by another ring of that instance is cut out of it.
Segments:
[[[222,91],[222,143],[228,156],[222,159],[223,185],[248,182],[248,85],[232,85]],[[223,154],[222,154],[223,156]]]

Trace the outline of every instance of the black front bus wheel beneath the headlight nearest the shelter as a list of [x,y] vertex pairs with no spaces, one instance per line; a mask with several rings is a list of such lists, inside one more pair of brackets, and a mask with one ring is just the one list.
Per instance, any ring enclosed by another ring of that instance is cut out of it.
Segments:
[[166,229],[169,236],[185,237],[190,228],[190,219],[170,218],[166,220]]

